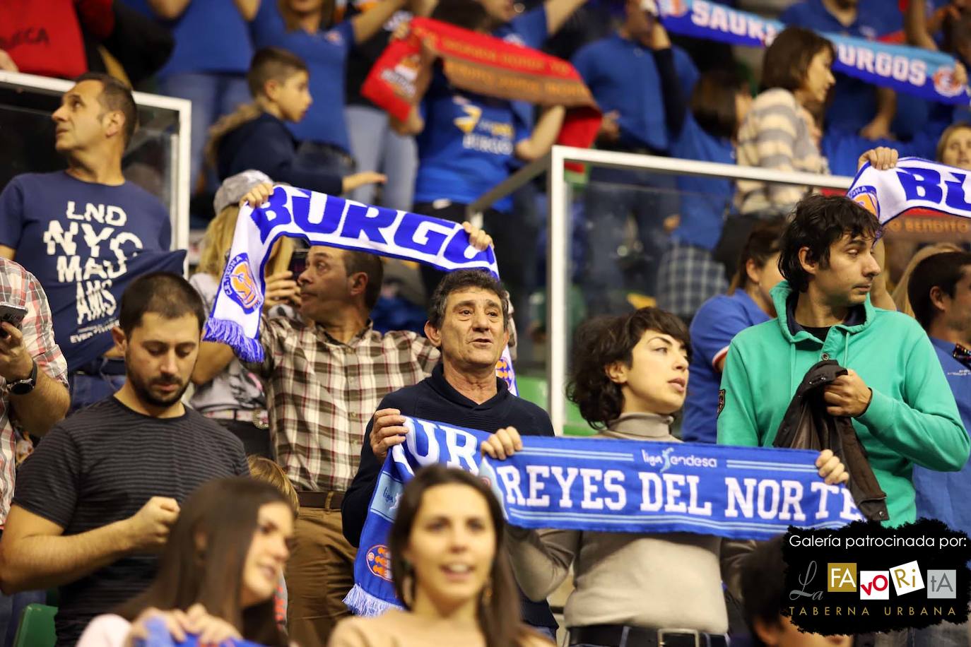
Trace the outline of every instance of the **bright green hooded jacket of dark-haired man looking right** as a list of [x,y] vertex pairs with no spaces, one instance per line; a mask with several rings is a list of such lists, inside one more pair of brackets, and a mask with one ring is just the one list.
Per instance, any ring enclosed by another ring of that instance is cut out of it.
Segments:
[[742,331],[728,347],[719,443],[771,446],[806,372],[820,360],[836,360],[873,390],[853,424],[887,493],[887,524],[914,521],[914,464],[956,471],[971,450],[930,339],[915,319],[873,307],[868,295],[861,323],[837,324],[820,342],[798,324],[790,326],[791,294],[785,280],[773,288],[778,318]]

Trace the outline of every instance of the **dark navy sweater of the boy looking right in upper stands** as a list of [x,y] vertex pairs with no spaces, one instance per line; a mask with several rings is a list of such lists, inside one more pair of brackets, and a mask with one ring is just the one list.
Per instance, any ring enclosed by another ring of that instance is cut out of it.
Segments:
[[283,120],[262,113],[252,121],[229,131],[218,144],[219,180],[250,169],[262,171],[275,182],[328,195],[343,193],[343,178],[297,162],[296,140]]

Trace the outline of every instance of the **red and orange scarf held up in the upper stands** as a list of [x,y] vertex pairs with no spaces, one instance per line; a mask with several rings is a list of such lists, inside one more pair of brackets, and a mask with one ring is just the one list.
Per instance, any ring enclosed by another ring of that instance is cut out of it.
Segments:
[[600,112],[570,63],[431,18],[414,18],[408,37],[391,41],[361,94],[403,121],[417,103],[419,73],[429,55],[442,60],[446,78],[460,90],[568,109],[557,144],[586,148],[596,138]]

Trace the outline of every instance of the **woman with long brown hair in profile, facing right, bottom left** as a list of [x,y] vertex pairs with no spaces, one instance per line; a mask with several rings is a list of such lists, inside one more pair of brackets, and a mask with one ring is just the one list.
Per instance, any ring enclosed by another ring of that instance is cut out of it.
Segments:
[[157,618],[179,641],[196,633],[200,644],[245,638],[285,647],[274,594],[293,516],[269,483],[241,476],[205,483],[185,501],[148,590],[92,620],[78,644],[129,645]]

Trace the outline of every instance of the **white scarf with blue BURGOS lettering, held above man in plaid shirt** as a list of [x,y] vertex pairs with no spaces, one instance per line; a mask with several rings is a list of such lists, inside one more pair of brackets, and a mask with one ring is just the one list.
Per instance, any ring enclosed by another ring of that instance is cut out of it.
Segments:
[[[492,247],[473,247],[459,224],[278,184],[264,205],[240,210],[203,336],[228,344],[247,362],[263,360],[259,318],[266,292],[264,269],[281,236],[418,261],[442,272],[481,269],[499,276]],[[496,375],[517,393],[509,348],[496,365]]]

